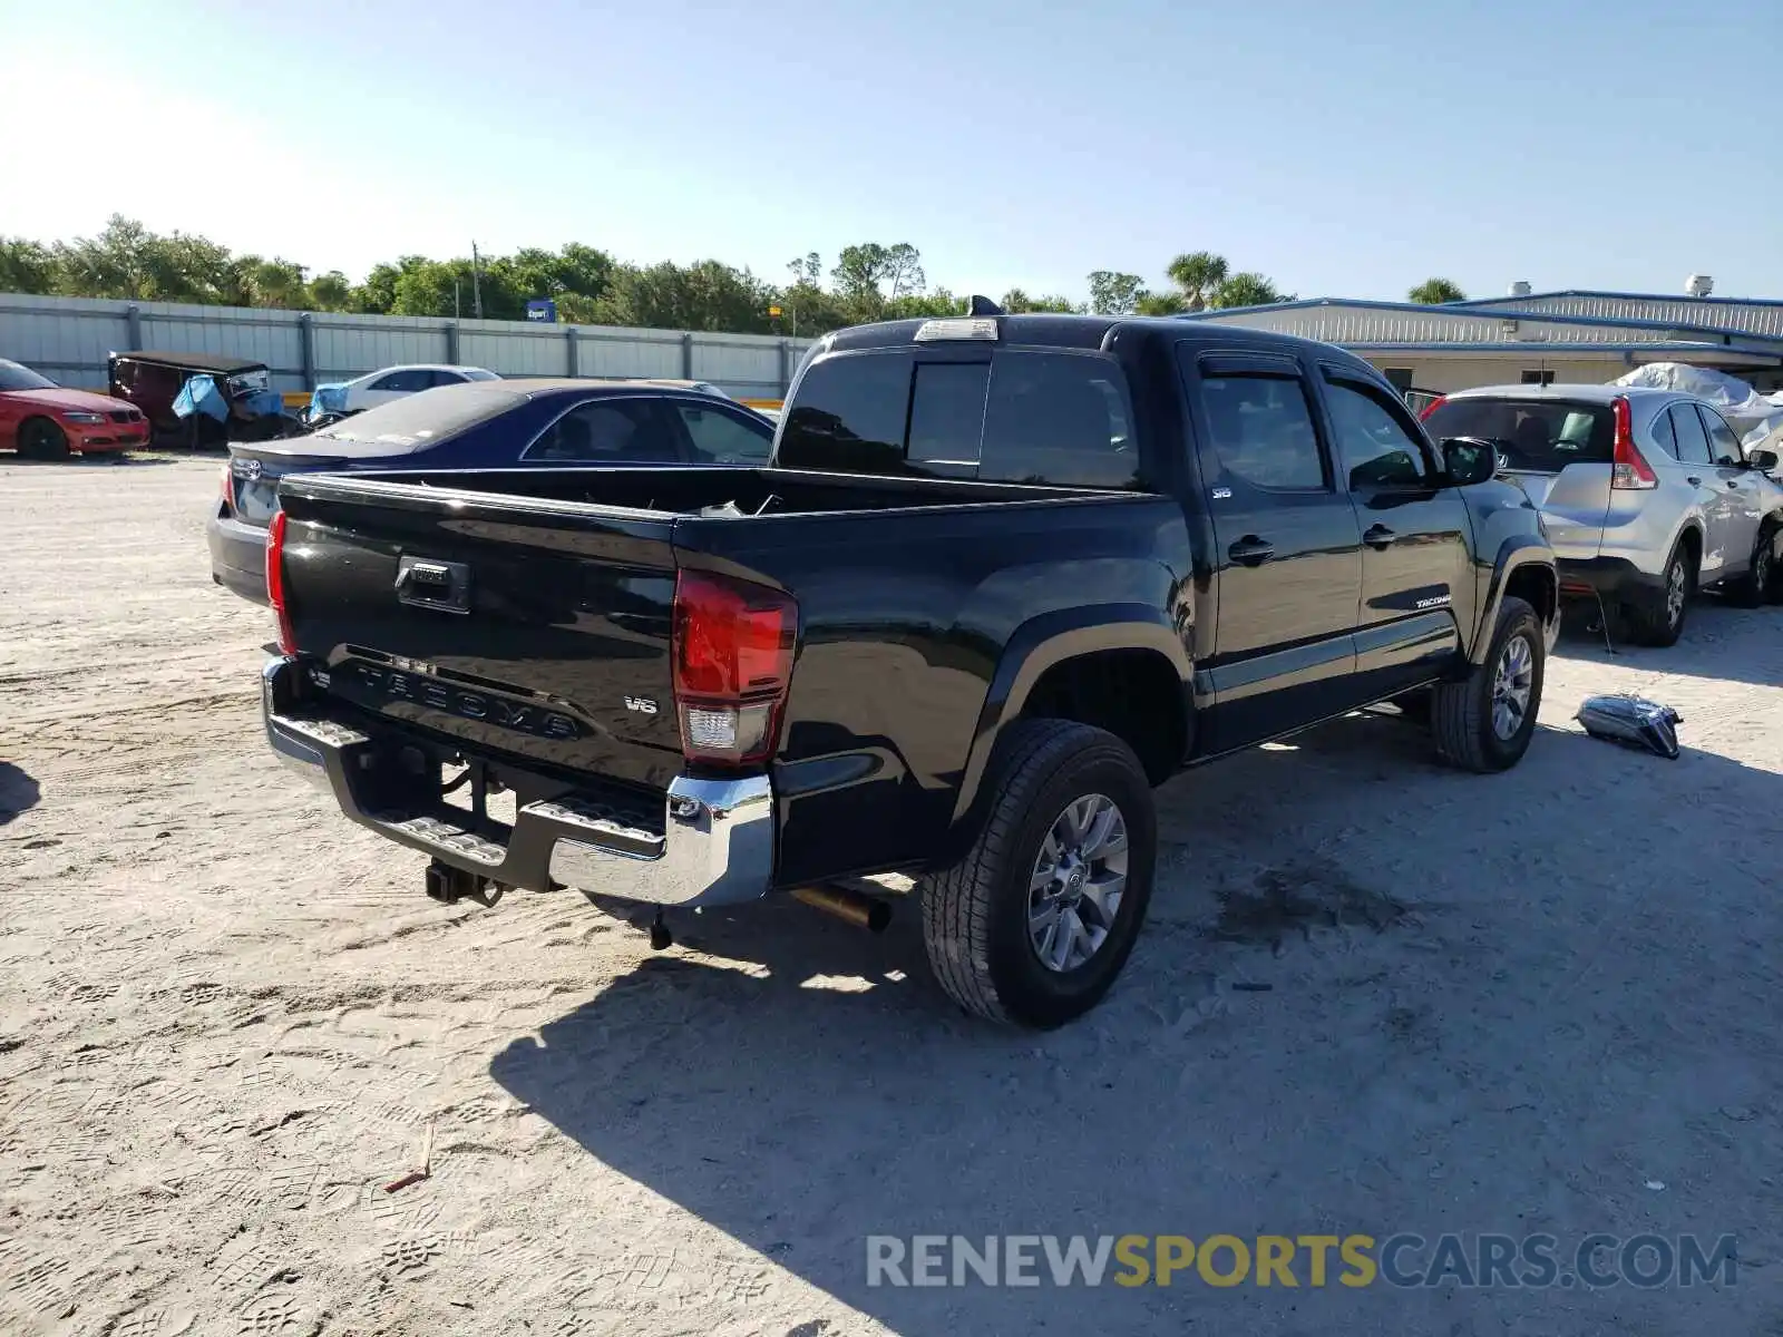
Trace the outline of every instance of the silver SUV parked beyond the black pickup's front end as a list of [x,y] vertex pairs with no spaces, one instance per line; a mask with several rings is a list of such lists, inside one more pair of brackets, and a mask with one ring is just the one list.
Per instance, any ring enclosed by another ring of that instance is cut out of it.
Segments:
[[1644,645],[1671,645],[1697,588],[1783,599],[1783,487],[1712,405],[1623,385],[1487,385],[1432,403],[1437,440],[1498,447],[1542,515],[1562,594],[1596,594]]

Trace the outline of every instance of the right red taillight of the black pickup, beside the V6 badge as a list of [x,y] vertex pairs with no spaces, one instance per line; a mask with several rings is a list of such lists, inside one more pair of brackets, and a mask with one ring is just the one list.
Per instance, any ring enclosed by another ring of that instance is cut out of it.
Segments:
[[797,636],[799,606],[779,590],[703,570],[676,578],[670,652],[688,761],[742,767],[774,754]]

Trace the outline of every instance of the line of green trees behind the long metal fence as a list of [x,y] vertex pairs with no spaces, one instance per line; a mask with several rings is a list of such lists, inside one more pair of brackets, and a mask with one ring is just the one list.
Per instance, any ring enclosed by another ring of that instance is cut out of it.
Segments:
[[[556,251],[522,248],[480,257],[476,264],[471,257],[403,255],[373,266],[355,283],[339,269],[314,273],[283,257],[235,255],[209,237],[157,234],[123,216],[112,216],[96,237],[0,237],[0,292],[71,298],[439,317],[469,317],[480,303],[485,317],[501,321],[524,319],[530,299],[551,298],[558,319],[576,324],[795,335],[863,321],[954,316],[966,305],[965,294],[929,287],[922,253],[909,242],[845,246],[827,273],[824,258],[811,251],[792,260],[786,273],[786,282],[770,283],[720,260],[638,266],[571,242]],[[1211,251],[1179,255],[1164,278],[1152,287],[1141,275],[1097,269],[1088,275],[1088,301],[1011,289],[1000,303],[1009,312],[1175,316],[1293,299],[1262,273],[1232,271],[1225,257]],[[1412,291],[1419,301],[1458,296],[1448,280]]]

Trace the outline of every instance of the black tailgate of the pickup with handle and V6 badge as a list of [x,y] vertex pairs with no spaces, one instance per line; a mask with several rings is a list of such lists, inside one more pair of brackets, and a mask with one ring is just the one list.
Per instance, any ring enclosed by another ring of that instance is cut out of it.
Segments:
[[667,788],[674,519],[289,478],[285,601],[328,693],[478,752]]

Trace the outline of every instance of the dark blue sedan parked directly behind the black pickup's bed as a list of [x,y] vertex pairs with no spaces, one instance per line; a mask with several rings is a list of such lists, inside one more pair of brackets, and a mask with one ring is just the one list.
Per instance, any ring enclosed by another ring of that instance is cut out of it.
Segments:
[[653,381],[442,385],[307,437],[230,444],[210,517],[210,579],[266,603],[266,526],[283,474],[342,469],[763,465],[774,424],[715,394]]

